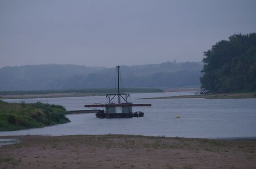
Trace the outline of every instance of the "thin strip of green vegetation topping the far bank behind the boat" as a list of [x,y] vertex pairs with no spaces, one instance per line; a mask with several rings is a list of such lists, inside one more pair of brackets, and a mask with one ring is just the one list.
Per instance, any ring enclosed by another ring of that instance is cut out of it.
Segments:
[[[130,93],[153,93],[163,92],[154,88],[124,88],[121,92]],[[56,93],[83,93],[83,94],[105,94],[115,93],[116,89],[67,89],[67,90],[32,90],[32,91],[0,91],[0,95],[36,95],[36,94],[56,94]]]

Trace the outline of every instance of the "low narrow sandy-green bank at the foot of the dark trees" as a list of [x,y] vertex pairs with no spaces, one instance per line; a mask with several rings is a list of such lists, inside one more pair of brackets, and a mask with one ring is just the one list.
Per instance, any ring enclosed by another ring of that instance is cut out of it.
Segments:
[[184,96],[166,96],[141,99],[187,99],[187,98],[206,98],[206,99],[250,99],[256,98],[256,93],[222,93],[222,94],[202,94],[202,95],[184,95]]

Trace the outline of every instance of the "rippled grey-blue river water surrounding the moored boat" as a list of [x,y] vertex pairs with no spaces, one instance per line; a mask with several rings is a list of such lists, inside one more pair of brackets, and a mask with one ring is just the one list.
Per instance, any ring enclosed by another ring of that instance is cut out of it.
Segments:
[[[256,99],[149,99],[139,98],[193,95],[193,92],[131,94],[133,103],[151,103],[151,107],[133,107],[145,117],[131,119],[97,119],[95,114],[67,115],[71,123],[19,131],[3,135],[74,135],[74,134],[139,134],[199,138],[256,137]],[[106,103],[104,96],[23,99],[82,110],[84,104]],[[7,102],[20,102],[8,99]],[[180,115],[180,119],[176,116]]]

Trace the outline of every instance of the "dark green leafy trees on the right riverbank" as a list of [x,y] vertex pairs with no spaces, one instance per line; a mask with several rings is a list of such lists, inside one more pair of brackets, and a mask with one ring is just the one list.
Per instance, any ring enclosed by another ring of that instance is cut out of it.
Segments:
[[256,90],[256,33],[235,34],[204,52],[201,88],[210,92]]

